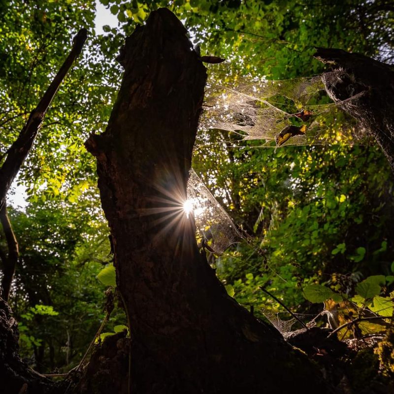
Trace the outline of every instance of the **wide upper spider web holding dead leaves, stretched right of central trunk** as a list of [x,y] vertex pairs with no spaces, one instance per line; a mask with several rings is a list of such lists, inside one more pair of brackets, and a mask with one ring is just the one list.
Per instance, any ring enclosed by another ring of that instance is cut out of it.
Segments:
[[291,137],[282,146],[368,143],[369,135],[361,125],[340,110],[342,101],[328,102],[325,92],[321,75],[281,81],[238,77],[234,86],[208,88],[200,126],[204,132],[232,131],[242,140],[258,139],[263,146],[275,146],[280,131],[303,123],[295,116],[303,109],[312,111],[305,121],[305,134]]

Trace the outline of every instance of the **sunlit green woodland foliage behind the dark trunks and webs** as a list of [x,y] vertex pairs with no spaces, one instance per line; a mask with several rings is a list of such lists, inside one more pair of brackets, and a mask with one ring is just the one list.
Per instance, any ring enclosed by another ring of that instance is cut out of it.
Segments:
[[[19,172],[27,205],[8,205],[19,244],[9,305],[19,321],[21,355],[39,372],[77,365],[105,316],[103,293],[111,278],[103,284],[97,275],[111,265],[109,231],[96,163],[83,143],[92,131],[105,129],[122,77],[115,58],[125,36],[150,11],[168,7],[201,55],[226,59],[207,65],[210,87],[236,89],[244,77],[257,75],[291,81],[319,75],[328,66],[313,59],[315,47],[342,48],[388,64],[394,60],[391,1],[101,3],[119,26],[104,26],[104,34],[96,35],[93,1],[0,1],[1,160],[62,64],[71,37],[81,27],[89,32]],[[291,81],[286,86],[293,86]],[[302,109],[279,93],[269,99],[289,113]],[[309,104],[329,102],[317,92]],[[288,144],[276,151],[273,141],[243,140],[229,131],[201,127],[197,134],[193,168],[248,234],[222,254],[208,251],[209,262],[231,296],[253,306],[262,319],[277,316],[281,328],[292,316],[261,287],[304,323],[325,308],[316,322],[326,325],[328,300],[338,296],[379,313],[383,309],[385,317],[393,313],[393,174],[380,149],[338,107],[320,119],[319,133],[325,133],[325,143]],[[0,247],[4,263],[4,236]],[[373,283],[375,291],[365,292],[365,283]],[[116,307],[104,331],[125,324]],[[363,329],[362,334],[378,330]],[[340,337],[355,336],[347,331]]]

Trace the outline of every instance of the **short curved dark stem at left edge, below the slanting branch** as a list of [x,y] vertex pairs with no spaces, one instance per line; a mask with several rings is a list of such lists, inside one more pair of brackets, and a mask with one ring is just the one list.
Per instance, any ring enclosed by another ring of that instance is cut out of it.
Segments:
[[19,249],[14,231],[12,230],[11,222],[9,221],[7,207],[5,204],[0,209],[0,222],[3,227],[8,249],[8,256],[4,256],[5,259],[2,259],[3,277],[1,279],[1,296],[5,301],[8,301],[12,278],[15,273],[16,264],[18,263]]

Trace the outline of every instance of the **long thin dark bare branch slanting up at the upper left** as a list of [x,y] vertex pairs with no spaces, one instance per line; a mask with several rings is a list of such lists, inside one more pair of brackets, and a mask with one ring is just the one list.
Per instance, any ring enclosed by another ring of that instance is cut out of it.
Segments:
[[60,67],[55,78],[44,93],[44,96],[38,105],[31,112],[28,121],[19,133],[16,141],[7,151],[7,157],[0,168],[0,209],[5,203],[5,196],[14,180],[19,168],[25,161],[27,155],[32,149],[34,139],[41,127],[45,114],[51,104],[60,84],[65,78],[68,70],[72,66],[74,60],[82,51],[83,44],[87,38],[87,30],[81,29],[74,37],[74,43],[71,52],[67,56],[65,62]]

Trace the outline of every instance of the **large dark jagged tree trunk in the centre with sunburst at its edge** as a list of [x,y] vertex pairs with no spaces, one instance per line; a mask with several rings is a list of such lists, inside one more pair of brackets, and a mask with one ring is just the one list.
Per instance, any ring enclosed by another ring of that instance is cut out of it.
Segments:
[[[159,9],[126,39],[108,127],[86,141],[131,328],[131,393],[325,393],[306,357],[227,295],[182,212],[206,79],[186,34]],[[125,368],[107,366],[81,391],[127,393]]]

